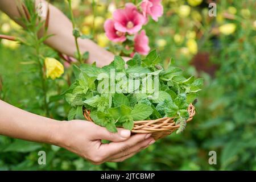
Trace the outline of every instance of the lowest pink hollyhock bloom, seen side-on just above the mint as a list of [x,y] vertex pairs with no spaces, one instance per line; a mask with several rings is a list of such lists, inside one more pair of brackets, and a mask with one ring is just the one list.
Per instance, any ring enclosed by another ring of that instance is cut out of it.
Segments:
[[150,47],[148,46],[148,37],[145,30],[142,30],[141,33],[135,35],[134,50],[141,55],[147,55],[150,51]]

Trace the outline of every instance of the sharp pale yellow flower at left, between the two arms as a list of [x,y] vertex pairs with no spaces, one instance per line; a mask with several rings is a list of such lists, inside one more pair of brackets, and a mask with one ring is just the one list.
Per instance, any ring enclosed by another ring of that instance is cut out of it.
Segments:
[[52,80],[59,78],[64,73],[63,65],[56,59],[52,57],[46,57],[44,60],[46,65],[46,77],[51,77]]

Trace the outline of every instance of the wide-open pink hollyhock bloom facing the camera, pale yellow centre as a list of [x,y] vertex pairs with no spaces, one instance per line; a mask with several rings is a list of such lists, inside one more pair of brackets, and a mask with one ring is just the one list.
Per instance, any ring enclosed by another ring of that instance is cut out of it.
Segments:
[[115,10],[113,13],[115,29],[120,32],[135,34],[141,30],[145,18],[133,3],[127,3],[125,9]]

